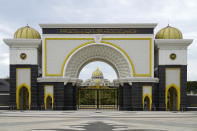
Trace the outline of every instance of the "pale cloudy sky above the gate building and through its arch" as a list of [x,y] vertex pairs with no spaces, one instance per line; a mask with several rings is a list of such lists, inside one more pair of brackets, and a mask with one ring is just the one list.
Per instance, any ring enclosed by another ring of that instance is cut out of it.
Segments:
[[[184,39],[194,39],[188,48],[187,75],[197,80],[196,0],[0,0],[0,78],[9,77],[9,48],[3,39],[13,38],[27,24],[41,33],[40,23],[158,23],[155,33],[170,24]],[[80,77],[85,79],[97,65],[85,66]],[[110,66],[100,66],[108,74],[105,78],[116,77]]]

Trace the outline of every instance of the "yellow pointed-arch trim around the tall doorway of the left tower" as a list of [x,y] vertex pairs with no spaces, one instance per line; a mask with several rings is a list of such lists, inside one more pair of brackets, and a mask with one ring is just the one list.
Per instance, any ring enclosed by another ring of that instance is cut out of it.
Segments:
[[20,89],[23,88],[23,87],[24,88],[27,88],[28,93],[29,93],[29,110],[30,110],[30,108],[31,108],[31,88],[27,84],[25,84],[25,83],[22,83],[16,89],[16,105],[17,105],[17,110],[20,109],[19,95],[20,95]]

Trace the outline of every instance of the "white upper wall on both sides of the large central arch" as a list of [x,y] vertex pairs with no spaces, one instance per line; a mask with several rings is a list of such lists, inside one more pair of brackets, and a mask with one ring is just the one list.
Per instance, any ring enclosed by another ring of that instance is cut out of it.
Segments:
[[[94,41],[93,34],[73,34],[73,35],[43,35],[42,39],[42,74],[45,77],[45,38],[92,38],[92,40],[47,40],[47,73],[60,74],[63,62],[68,54],[76,47]],[[154,45],[153,35],[136,35],[136,34],[106,34],[103,38],[152,38],[151,52],[149,40],[104,40],[122,48],[132,60],[136,74],[152,74],[154,68]],[[150,53],[152,62],[150,63]],[[150,67],[151,66],[151,67]],[[151,72],[150,72],[151,68]],[[62,76],[60,76],[62,77]],[[144,77],[144,76],[143,76]]]

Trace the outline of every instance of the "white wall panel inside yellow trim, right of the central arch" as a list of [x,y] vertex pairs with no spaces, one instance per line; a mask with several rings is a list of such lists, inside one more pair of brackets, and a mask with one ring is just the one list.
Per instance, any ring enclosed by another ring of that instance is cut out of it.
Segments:
[[[150,40],[106,40],[116,44],[130,57],[136,74],[150,73]],[[151,43],[152,44],[152,43]],[[152,50],[151,50],[152,51]]]

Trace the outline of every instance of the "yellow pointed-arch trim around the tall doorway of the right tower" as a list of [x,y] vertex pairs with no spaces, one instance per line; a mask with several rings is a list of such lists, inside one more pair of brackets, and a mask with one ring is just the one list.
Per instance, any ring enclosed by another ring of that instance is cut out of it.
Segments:
[[181,102],[181,98],[180,98],[181,93],[180,93],[180,88],[179,88],[176,84],[174,84],[174,83],[168,85],[167,88],[166,88],[166,93],[165,93],[165,98],[166,98],[166,110],[168,109],[168,104],[167,104],[167,102],[168,102],[168,90],[169,90],[170,88],[174,88],[174,89],[176,90],[176,92],[177,92],[177,111],[179,111],[179,110],[180,110],[180,102]]

